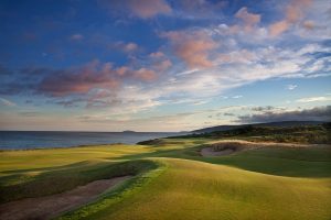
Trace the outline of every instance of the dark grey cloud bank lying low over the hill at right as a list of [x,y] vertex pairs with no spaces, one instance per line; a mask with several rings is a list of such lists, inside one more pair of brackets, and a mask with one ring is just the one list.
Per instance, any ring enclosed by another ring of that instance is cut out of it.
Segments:
[[241,123],[259,123],[274,121],[331,121],[331,106],[316,107],[296,111],[273,112],[238,117]]

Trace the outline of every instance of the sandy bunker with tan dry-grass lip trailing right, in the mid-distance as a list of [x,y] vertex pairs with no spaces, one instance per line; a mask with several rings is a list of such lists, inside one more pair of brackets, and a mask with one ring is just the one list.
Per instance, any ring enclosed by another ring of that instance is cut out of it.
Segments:
[[224,156],[239,151],[247,151],[260,147],[310,147],[325,146],[324,144],[295,144],[295,143],[274,143],[274,142],[249,142],[243,140],[223,140],[206,145],[200,151],[201,156]]

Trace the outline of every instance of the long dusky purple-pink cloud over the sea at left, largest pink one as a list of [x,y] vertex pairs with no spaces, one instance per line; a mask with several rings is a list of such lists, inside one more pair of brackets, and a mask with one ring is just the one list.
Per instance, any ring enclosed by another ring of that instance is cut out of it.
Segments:
[[[168,64],[162,65],[166,68]],[[93,61],[82,67],[50,70],[38,85],[36,92],[51,97],[95,94],[95,90],[116,92],[120,89],[121,82],[128,79],[140,81],[157,79],[158,74],[154,69],[147,67],[135,69],[129,66],[114,68],[111,63]]]

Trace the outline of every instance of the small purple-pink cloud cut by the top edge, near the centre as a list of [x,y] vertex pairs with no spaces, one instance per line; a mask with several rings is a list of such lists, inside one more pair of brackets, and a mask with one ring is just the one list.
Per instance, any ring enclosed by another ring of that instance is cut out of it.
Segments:
[[[159,14],[169,14],[172,9],[166,0],[99,0],[100,7],[106,7],[113,13],[129,12],[141,19],[151,19]],[[120,13],[127,14],[127,13]]]

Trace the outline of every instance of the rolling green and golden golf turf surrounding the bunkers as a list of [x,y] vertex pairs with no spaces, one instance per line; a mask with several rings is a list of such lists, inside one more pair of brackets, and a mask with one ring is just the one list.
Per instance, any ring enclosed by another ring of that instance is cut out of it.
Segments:
[[331,218],[330,146],[200,156],[214,141],[1,152],[0,202],[130,174],[136,177],[62,219]]

